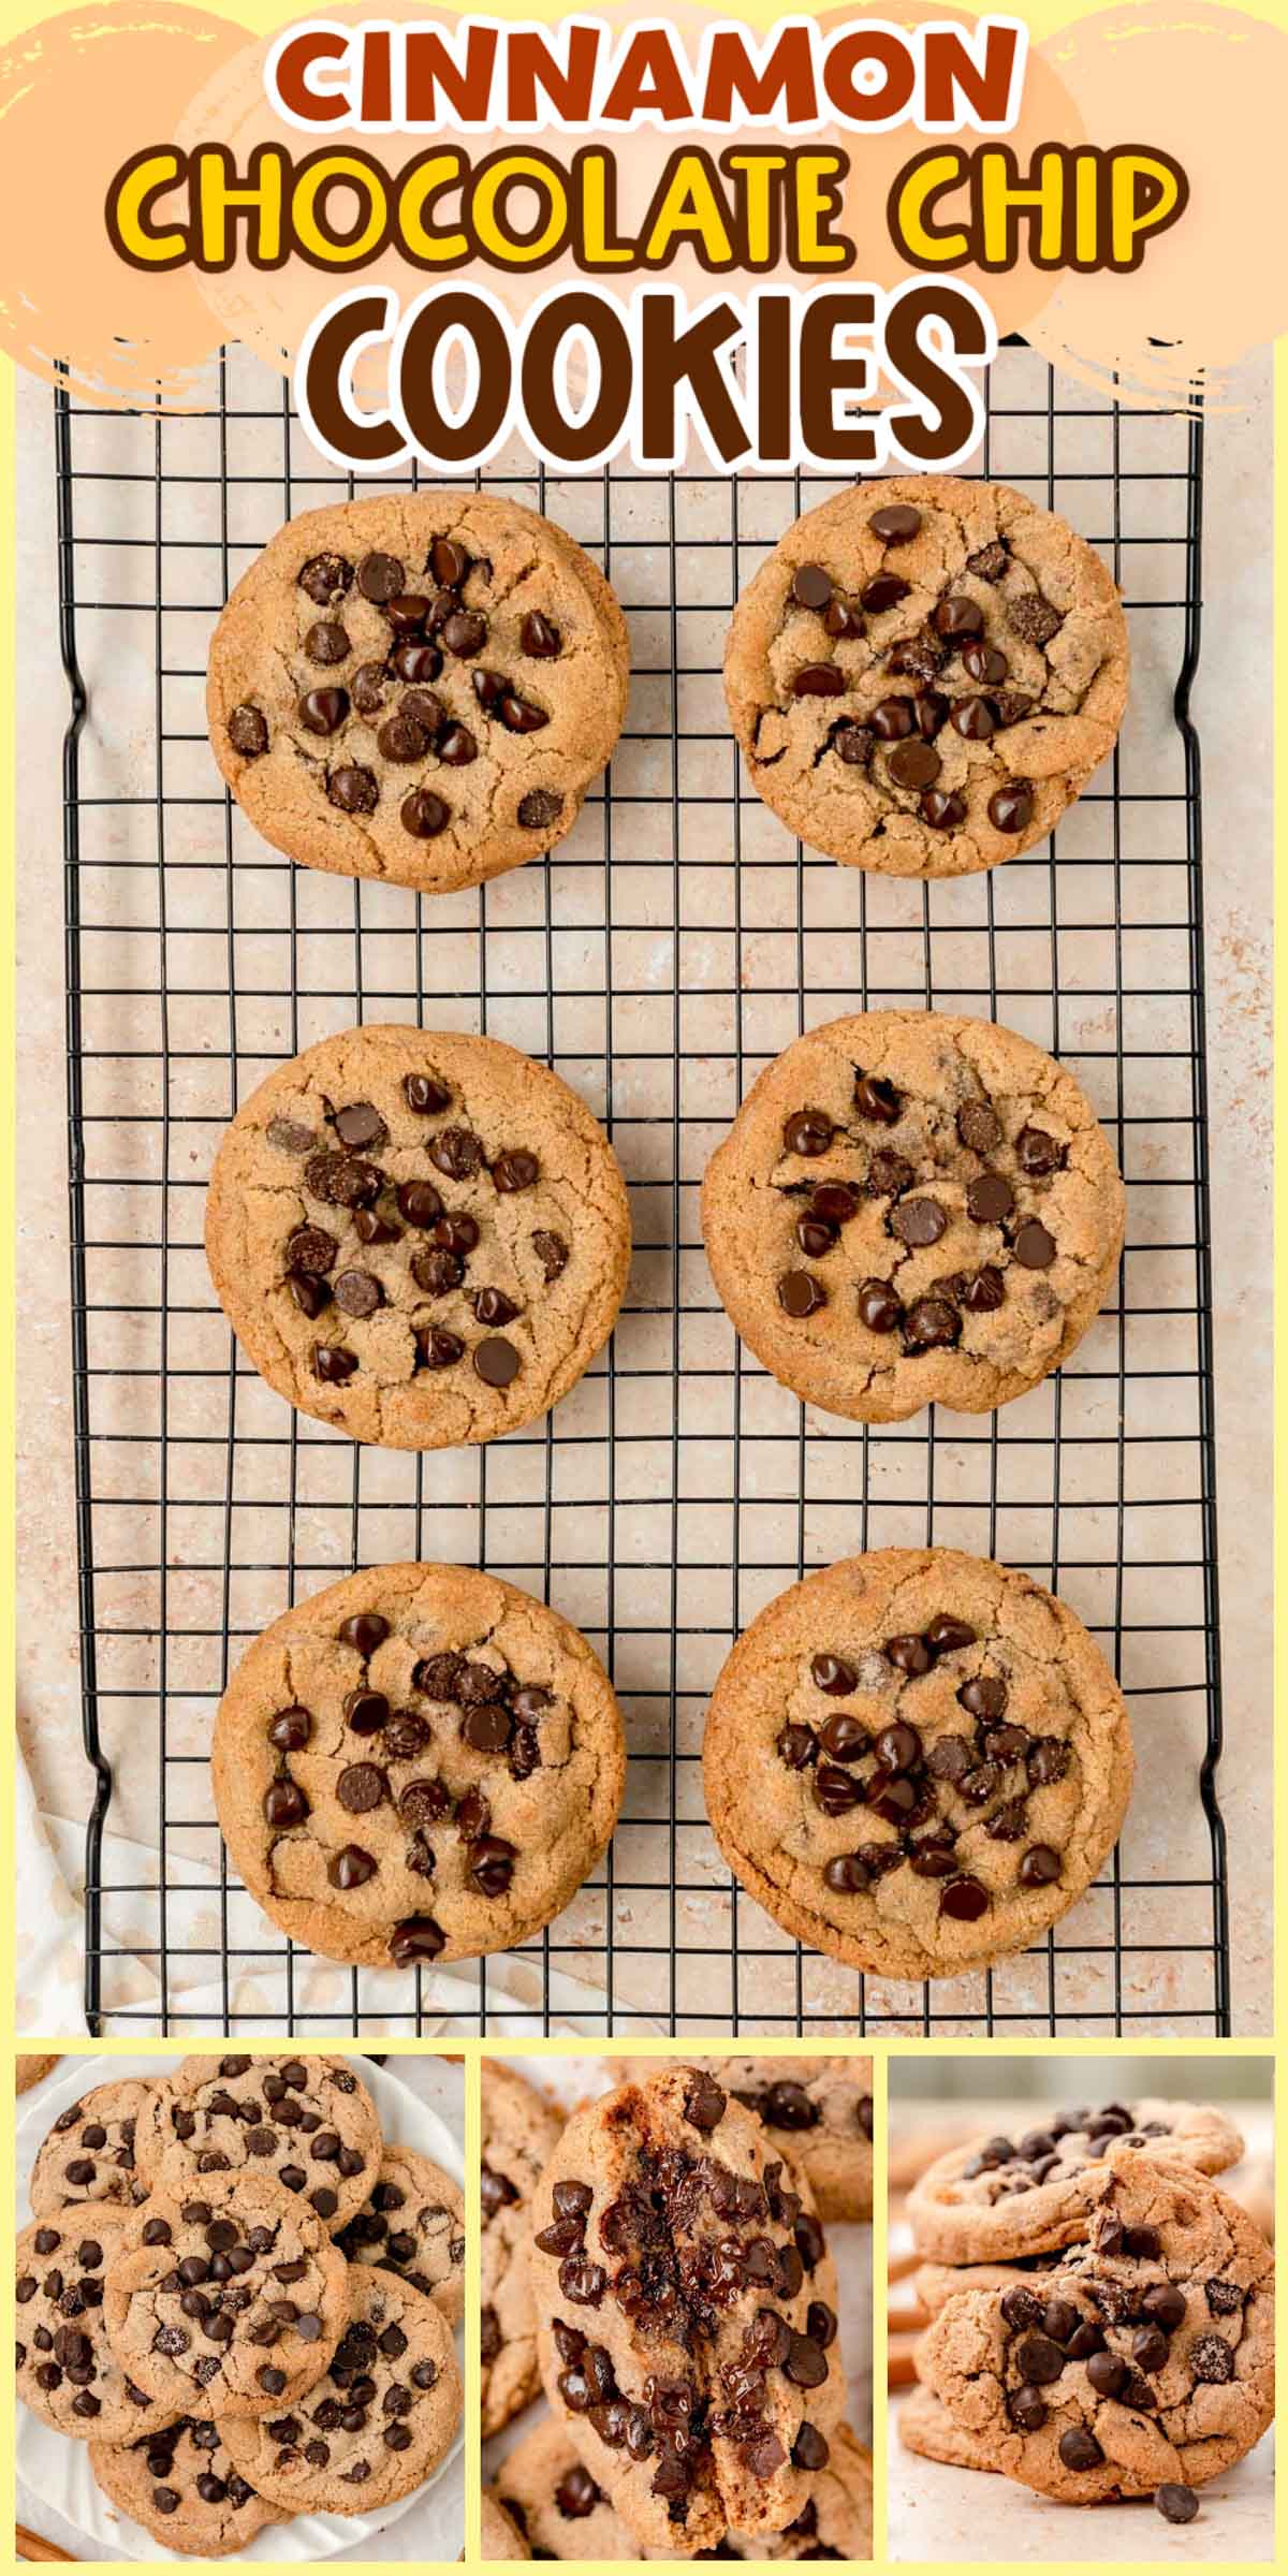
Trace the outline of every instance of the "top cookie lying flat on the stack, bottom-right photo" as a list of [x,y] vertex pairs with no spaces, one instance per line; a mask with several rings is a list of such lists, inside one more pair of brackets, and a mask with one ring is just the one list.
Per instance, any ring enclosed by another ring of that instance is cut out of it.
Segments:
[[1103,2102],[1038,2115],[933,2164],[907,2200],[912,2241],[945,2264],[1015,2262],[1087,2233],[1087,2172],[1110,2148],[1221,2174],[1244,2141],[1211,2102]]

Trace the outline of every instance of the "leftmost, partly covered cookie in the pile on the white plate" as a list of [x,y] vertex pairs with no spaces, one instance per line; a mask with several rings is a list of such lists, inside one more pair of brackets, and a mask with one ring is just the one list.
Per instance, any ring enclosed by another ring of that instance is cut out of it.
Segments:
[[15,2388],[75,2442],[129,2442],[173,2416],[108,2342],[103,2282],[124,2226],[113,2208],[59,2210],[23,2228],[13,2257]]

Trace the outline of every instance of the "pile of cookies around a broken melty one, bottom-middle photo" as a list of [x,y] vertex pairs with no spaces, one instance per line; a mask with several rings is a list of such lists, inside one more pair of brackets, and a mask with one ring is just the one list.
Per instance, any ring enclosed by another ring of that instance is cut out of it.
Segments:
[[[866,2058],[626,2058],[572,2117],[482,2066],[484,2558],[871,2558],[824,2226],[871,2218]],[[860,2331],[866,2331],[866,2318]]]

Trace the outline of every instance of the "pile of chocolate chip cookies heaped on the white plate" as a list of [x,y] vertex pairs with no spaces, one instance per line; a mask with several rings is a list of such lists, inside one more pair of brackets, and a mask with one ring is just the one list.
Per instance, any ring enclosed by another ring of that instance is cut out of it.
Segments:
[[18,2236],[18,2396],[175,2555],[371,2514],[461,2421],[459,2184],[348,2058],[196,2056],[49,2130]]

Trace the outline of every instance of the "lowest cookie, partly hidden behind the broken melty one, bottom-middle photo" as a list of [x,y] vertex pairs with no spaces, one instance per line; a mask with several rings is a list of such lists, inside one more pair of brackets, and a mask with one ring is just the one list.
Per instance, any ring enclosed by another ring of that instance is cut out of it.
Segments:
[[[577,2460],[564,2427],[549,2416],[507,2452],[497,2499],[513,2524],[520,2524],[536,2558],[670,2558],[675,2550],[641,2550],[636,2535],[613,2512],[608,2496]],[[487,2496],[484,2496],[487,2506]],[[703,2558],[871,2558],[873,2550],[873,2463],[848,2424],[829,2434],[829,2460],[814,2476],[814,2494],[786,2532],[726,2532]],[[518,2555],[515,2548],[484,2555]]]

